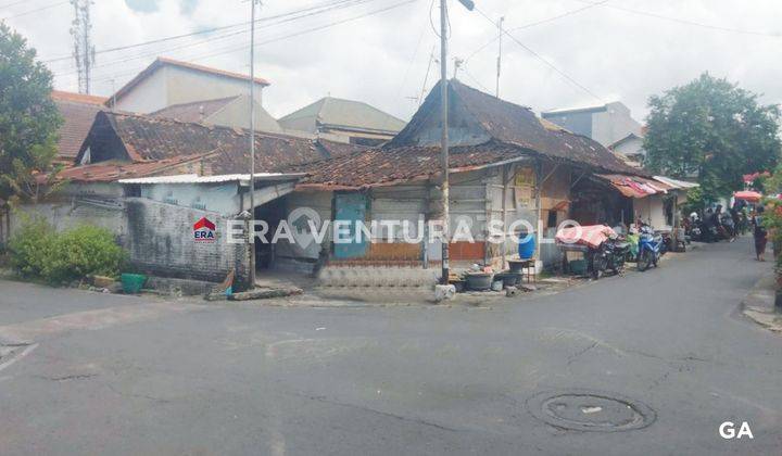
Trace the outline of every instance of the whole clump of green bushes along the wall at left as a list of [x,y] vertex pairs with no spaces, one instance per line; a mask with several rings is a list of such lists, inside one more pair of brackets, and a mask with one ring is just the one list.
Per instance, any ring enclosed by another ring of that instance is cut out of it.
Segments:
[[55,233],[42,220],[26,223],[9,242],[11,265],[22,276],[64,283],[88,275],[116,276],[125,251],[112,233],[83,225]]

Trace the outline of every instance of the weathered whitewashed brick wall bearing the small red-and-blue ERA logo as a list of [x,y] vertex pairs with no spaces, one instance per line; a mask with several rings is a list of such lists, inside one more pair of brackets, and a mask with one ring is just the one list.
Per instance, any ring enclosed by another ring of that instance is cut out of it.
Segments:
[[[223,281],[235,269],[239,281],[248,277],[245,243],[227,243],[228,218],[218,213],[126,199],[127,242],[131,265],[147,274],[182,279]],[[214,242],[193,240],[193,224],[201,217],[216,225]]]

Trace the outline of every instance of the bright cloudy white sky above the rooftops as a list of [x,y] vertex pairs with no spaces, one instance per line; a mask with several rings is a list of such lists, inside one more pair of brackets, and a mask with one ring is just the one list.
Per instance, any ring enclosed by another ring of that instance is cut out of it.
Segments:
[[[285,115],[331,94],[366,101],[404,119],[427,78],[438,42],[432,0],[264,0],[255,71],[272,86],[264,104]],[[436,2],[436,3],[439,3]],[[699,73],[728,77],[782,102],[782,1],[779,0],[451,0],[451,61],[457,77],[494,91],[497,29],[505,17],[502,98],[535,111],[621,100],[643,119],[646,100]],[[314,9],[319,7],[318,9]],[[247,0],[94,0],[98,54],[93,93],[109,96],[156,55],[248,72]],[[430,21],[431,15],[431,21]],[[0,18],[28,38],[76,90],[67,0],[0,0]],[[234,26],[234,27],[228,27]],[[226,27],[210,34],[113,48]],[[295,36],[294,36],[295,35]],[[525,49],[524,47],[527,47]],[[436,50],[438,52],[438,50]]]

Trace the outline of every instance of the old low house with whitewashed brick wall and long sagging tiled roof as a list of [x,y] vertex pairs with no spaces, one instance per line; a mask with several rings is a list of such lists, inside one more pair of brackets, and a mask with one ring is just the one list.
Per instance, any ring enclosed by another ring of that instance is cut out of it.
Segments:
[[[76,166],[59,176],[67,185],[23,210],[59,229],[81,223],[108,228],[139,270],[222,280],[234,269],[244,280],[249,250],[247,244],[226,244],[228,220],[244,211],[256,217],[279,212],[279,199],[302,176],[274,169],[357,149],[274,134],[258,132],[254,140],[258,174],[252,211],[247,130],[100,111],[73,159]],[[193,224],[203,217],[217,227],[213,243],[193,242]],[[18,224],[11,218],[11,230]]]

